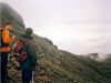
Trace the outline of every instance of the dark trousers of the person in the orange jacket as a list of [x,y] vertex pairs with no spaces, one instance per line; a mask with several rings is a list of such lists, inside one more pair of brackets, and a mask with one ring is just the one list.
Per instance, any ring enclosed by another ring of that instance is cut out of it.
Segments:
[[1,52],[1,83],[8,83],[8,52]]

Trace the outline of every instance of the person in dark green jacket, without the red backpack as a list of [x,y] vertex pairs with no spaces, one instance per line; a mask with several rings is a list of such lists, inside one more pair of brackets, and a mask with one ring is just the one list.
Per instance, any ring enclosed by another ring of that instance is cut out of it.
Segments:
[[26,30],[26,33],[22,34],[21,41],[23,43],[23,48],[27,52],[27,55],[26,52],[22,52],[21,54],[24,54],[20,58],[22,60],[17,59],[20,62],[22,83],[30,83],[32,81],[33,76],[32,74],[36,71],[37,53],[36,53],[36,44],[33,42],[33,38],[31,37],[32,33],[33,30],[31,28],[28,28]]

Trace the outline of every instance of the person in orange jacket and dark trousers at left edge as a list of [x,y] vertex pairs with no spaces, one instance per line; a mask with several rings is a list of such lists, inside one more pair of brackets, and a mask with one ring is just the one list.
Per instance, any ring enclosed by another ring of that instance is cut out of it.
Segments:
[[11,35],[13,23],[8,22],[4,28],[0,30],[0,56],[1,56],[1,83],[8,83],[8,55],[11,51],[10,44],[14,41],[16,37]]

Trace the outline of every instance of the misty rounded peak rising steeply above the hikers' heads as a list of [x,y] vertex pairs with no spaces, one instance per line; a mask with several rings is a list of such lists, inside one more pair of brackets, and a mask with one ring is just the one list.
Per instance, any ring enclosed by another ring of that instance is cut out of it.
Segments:
[[0,22],[14,22],[18,30],[24,30],[24,23],[21,15],[14,11],[9,4],[0,3]]

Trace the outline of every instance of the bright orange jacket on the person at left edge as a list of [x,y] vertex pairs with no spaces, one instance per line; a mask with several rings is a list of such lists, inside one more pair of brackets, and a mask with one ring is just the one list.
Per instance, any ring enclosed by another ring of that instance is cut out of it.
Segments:
[[[8,29],[4,29],[2,31],[2,40],[3,40],[4,43],[8,43],[8,44],[13,42],[14,39],[11,38],[10,31]],[[0,48],[0,52],[9,52],[9,51],[11,51],[10,46]]]

